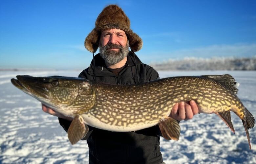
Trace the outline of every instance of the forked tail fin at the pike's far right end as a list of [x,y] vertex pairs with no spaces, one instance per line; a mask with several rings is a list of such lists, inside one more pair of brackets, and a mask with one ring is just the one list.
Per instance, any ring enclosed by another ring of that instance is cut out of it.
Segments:
[[250,135],[249,135],[248,129],[254,127],[255,119],[252,116],[252,114],[246,108],[245,108],[245,119],[242,120],[242,122],[243,122],[243,125],[245,127],[245,132],[246,132],[246,135],[247,135],[249,147],[251,149]]

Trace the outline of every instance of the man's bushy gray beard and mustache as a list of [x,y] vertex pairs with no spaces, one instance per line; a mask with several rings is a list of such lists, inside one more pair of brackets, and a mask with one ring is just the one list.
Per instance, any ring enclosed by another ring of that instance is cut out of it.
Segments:
[[[111,48],[119,48],[119,52],[109,50]],[[129,53],[129,42],[127,41],[126,47],[117,44],[107,44],[99,47],[100,56],[110,65],[117,64],[124,59]]]

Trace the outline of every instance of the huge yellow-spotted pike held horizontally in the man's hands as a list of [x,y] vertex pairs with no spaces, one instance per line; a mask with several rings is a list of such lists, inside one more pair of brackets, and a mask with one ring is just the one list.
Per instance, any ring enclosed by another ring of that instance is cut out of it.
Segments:
[[141,84],[111,85],[75,77],[18,75],[14,86],[65,116],[74,118],[68,138],[72,144],[88,126],[128,132],[159,125],[165,139],[178,140],[179,123],[169,116],[181,101],[194,100],[200,113],[217,114],[233,131],[230,111],[243,122],[249,147],[254,117],[237,97],[235,79],[225,75],[181,76]]

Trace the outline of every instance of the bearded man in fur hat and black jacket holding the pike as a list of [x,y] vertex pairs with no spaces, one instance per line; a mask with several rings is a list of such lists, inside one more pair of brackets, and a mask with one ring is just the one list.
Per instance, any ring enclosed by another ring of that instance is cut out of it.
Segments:
[[[95,28],[85,39],[85,47],[97,54],[89,68],[79,77],[111,84],[138,84],[156,80],[158,73],[143,64],[134,54],[142,47],[141,38],[130,29],[130,20],[121,8],[110,5],[99,14]],[[129,51],[129,47],[131,51]],[[67,131],[72,118],[42,105],[43,111],[59,117]],[[198,113],[194,101],[176,104],[169,117],[178,121],[191,119]],[[160,153],[161,132],[158,125],[134,132],[110,132],[89,127],[87,139],[89,163],[164,163]],[[83,140],[84,140],[83,139]]]

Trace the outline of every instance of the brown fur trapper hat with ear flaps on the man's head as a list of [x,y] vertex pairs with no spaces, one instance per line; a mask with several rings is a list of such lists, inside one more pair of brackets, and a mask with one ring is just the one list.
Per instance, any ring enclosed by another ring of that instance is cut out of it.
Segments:
[[137,52],[142,48],[141,38],[130,29],[129,18],[117,5],[109,5],[101,11],[96,19],[95,28],[85,38],[85,48],[95,53],[99,46],[101,31],[112,28],[117,28],[125,32],[132,51]]

